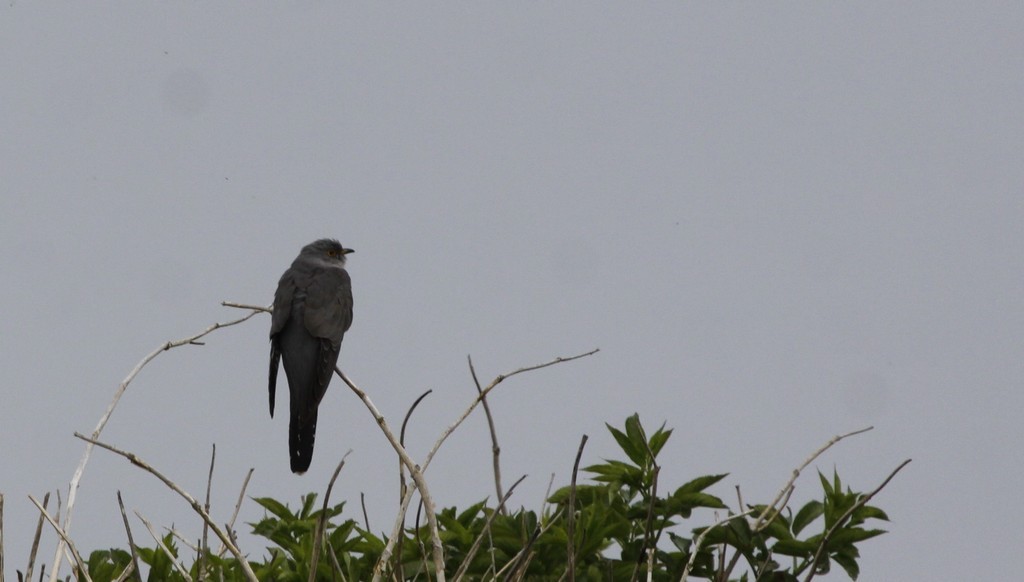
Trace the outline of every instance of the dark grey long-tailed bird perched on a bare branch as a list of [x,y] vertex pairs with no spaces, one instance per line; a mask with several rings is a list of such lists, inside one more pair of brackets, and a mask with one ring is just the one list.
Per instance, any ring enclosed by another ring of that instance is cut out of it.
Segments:
[[354,252],[331,239],[302,247],[281,276],[270,320],[270,417],[278,387],[278,362],[285,361],[291,418],[288,453],[292,472],[309,468],[316,412],[352,325],[352,283],[345,255]]

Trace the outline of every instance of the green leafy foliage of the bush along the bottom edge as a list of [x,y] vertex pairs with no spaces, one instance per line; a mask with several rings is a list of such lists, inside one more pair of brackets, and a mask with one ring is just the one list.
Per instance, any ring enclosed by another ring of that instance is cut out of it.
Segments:
[[[888,521],[886,513],[862,503],[864,494],[844,488],[838,473],[830,480],[819,474],[822,497],[795,510],[757,504],[733,510],[709,492],[726,474],[697,476],[675,489],[658,483],[657,456],[671,429],[663,425],[648,435],[634,414],[623,427],[608,425],[608,430],[625,459],[585,467],[590,482],[578,485],[574,496],[570,487],[558,489],[540,513],[521,508],[498,511],[484,501],[463,510],[440,510],[437,522],[445,572],[463,568],[472,580],[559,579],[567,574],[571,543],[572,568],[581,580],[646,578],[648,570],[654,580],[679,580],[691,562],[689,575],[709,580],[793,581],[806,576],[809,569],[827,574],[833,565],[856,579],[859,544],[885,533],[865,524]],[[574,506],[570,507],[571,497]],[[387,540],[343,518],[344,503],[323,509],[312,493],[303,496],[295,510],[268,497],[255,501],[265,515],[251,524],[253,533],[270,544],[262,560],[250,563],[260,580],[308,580],[322,518],[326,519],[325,537],[314,578],[372,578]],[[725,521],[714,527],[690,524],[695,510]],[[743,511],[750,514],[738,515]],[[758,518],[772,514],[773,518]],[[174,539],[168,535],[163,542],[180,564]],[[432,578],[431,543],[426,526],[407,528],[385,575],[401,580]],[[477,543],[479,551],[474,551]],[[137,549],[147,566],[147,580],[184,579],[164,549]],[[730,578],[739,560],[744,573]],[[97,550],[90,554],[87,568],[93,580],[109,581],[130,563],[131,554],[125,550]],[[245,579],[234,558],[209,550],[196,556],[188,570],[193,579]]]

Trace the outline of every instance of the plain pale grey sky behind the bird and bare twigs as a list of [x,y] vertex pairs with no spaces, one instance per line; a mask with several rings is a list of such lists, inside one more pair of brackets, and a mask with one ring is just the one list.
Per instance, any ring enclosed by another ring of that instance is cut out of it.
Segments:
[[[614,456],[603,423],[676,432],[663,484],[766,502],[814,469],[889,534],[862,580],[1006,579],[1024,506],[1024,4],[55,3],[0,6],[0,492],[6,575],[146,352],[266,304],[338,238],[341,366],[422,458],[481,377],[600,347],[493,397],[506,485]],[[249,467],[293,506],[335,489],[390,529],[396,461],[335,381],[310,471],[266,405],[269,319],[158,358],[102,439],[215,516]],[[492,495],[471,417],[427,473]],[[668,485],[666,487],[669,487]],[[96,451],[72,535],[126,547],[129,509],[198,537],[183,501]],[[240,522],[262,514],[248,502]],[[694,522],[690,527],[701,525]],[[137,538],[145,539],[137,519]],[[242,532],[249,528],[242,525]],[[52,559],[47,529],[40,559]],[[263,544],[243,545],[259,555]],[[67,567],[65,567],[67,573]],[[833,578],[844,579],[841,574]]]

